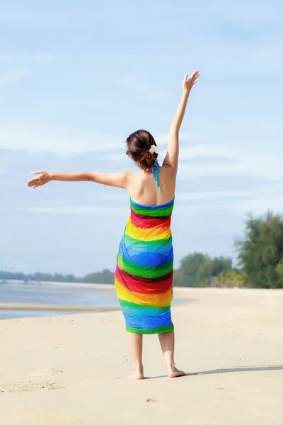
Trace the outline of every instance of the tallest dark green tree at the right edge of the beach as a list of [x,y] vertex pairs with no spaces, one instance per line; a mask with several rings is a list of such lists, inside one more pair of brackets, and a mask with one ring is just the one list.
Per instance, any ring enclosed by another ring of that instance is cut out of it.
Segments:
[[238,261],[251,288],[283,288],[283,218],[267,212],[265,217],[248,215],[246,234],[236,241]]

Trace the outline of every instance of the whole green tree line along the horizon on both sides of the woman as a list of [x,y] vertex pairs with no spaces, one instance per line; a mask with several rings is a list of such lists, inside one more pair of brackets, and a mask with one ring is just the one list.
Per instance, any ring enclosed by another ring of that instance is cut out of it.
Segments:
[[[190,287],[283,288],[283,217],[267,212],[264,217],[248,215],[242,239],[237,239],[238,266],[230,257],[211,258],[195,252],[180,261],[174,271],[175,285]],[[59,273],[11,273],[0,271],[2,280],[37,280],[112,284],[114,273],[105,269],[83,278]]]

